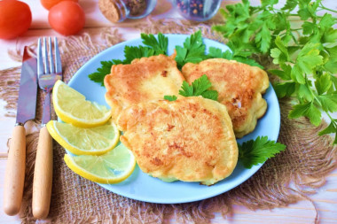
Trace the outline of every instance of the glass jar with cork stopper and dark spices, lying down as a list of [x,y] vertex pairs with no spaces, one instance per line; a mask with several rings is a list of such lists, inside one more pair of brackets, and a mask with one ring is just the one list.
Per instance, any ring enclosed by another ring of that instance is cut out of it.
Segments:
[[141,19],[153,12],[157,0],[99,0],[98,7],[106,19],[121,22]]

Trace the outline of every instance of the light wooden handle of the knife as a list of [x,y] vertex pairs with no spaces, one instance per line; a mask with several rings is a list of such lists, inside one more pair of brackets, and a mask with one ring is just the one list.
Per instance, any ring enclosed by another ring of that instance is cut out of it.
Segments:
[[14,127],[4,177],[4,212],[15,215],[20,212],[26,168],[26,130]]

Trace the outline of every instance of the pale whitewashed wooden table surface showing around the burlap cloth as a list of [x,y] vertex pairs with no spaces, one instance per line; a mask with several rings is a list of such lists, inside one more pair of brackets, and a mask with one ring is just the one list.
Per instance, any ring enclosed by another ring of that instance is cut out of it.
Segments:
[[[22,50],[27,43],[35,42],[40,36],[60,36],[51,29],[48,24],[48,11],[46,11],[40,1],[21,0],[26,2],[33,13],[33,22],[27,33],[20,38],[4,41],[0,40],[0,69],[12,66],[20,66],[20,62],[13,61],[8,56],[8,50]],[[238,2],[231,1],[233,3]],[[281,0],[280,2],[284,2]],[[259,4],[258,0],[251,1],[253,4]],[[337,10],[336,0],[323,1],[325,6]],[[86,13],[86,24],[82,32],[93,27],[121,27],[120,32],[125,39],[137,37],[137,30],[126,28],[129,23],[137,23],[137,20],[128,20],[120,24],[110,23],[98,10],[98,0],[80,0],[84,12]],[[230,4],[230,3],[226,3]],[[152,13],[153,19],[162,18],[181,18],[180,15],[171,7],[167,0],[161,0],[161,4]],[[19,216],[7,216],[3,210],[4,195],[4,170],[6,159],[1,158],[7,152],[7,139],[12,135],[12,128],[15,123],[14,118],[5,117],[5,102],[0,99],[0,223],[20,223]],[[317,189],[317,194],[311,195],[310,198],[317,206],[320,223],[337,223],[337,170],[333,171],[326,178],[326,184]],[[243,206],[234,206],[234,215],[223,220],[221,215],[216,213],[214,223],[313,223],[316,217],[314,206],[308,200],[302,200],[294,205],[281,207],[273,210],[250,211]],[[174,219],[170,220],[175,222]]]

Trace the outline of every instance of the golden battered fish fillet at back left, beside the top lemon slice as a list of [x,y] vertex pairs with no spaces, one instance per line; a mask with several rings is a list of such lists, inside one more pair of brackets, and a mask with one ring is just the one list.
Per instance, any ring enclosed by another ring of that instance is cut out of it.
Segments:
[[111,106],[112,117],[131,104],[177,95],[184,81],[176,68],[175,55],[134,59],[130,65],[114,65],[106,75],[106,102]]

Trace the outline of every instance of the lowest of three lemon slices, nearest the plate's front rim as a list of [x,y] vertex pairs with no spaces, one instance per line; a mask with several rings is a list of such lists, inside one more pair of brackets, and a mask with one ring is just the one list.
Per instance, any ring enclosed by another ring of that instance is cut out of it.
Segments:
[[118,183],[129,177],[135,169],[136,159],[123,144],[101,156],[65,155],[67,166],[74,173],[98,183]]

